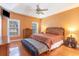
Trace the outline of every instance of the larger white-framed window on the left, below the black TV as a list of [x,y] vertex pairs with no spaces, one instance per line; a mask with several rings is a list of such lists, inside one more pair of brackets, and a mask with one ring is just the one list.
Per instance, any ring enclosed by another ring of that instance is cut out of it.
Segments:
[[8,35],[18,36],[20,34],[20,21],[19,20],[9,20],[8,21]]

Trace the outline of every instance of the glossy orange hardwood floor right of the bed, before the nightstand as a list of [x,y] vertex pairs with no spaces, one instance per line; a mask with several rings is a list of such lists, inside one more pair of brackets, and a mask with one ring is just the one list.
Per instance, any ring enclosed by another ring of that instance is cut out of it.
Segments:
[[[42,55],[46,55],[45,53]],[[48,56],[79,56],[79,49],[72,49],[64,45],[49,52]]]

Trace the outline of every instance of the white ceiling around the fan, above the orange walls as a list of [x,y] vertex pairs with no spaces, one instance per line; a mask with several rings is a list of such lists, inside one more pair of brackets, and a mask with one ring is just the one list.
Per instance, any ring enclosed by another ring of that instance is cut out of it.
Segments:
[[44,11],[44,15],[38,15],[35,11],[37,4],[38,3],[0,3],[0,6],[9,11],[37,18],[44,18],[79,6],[77,3],[40,3],[40,8],[48,9],[48,11]]

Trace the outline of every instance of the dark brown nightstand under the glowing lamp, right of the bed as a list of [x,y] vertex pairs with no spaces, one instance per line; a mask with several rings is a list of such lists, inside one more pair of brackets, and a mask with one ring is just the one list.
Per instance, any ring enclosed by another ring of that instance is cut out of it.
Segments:
[[76,48],[77,46],[77,41],[75,40],[74,37],[67,37],[66,40],[64,40],[64,45],[68,46],[70,48]]

